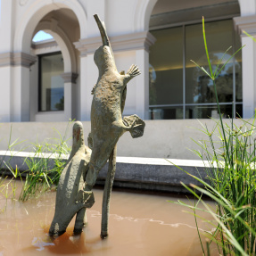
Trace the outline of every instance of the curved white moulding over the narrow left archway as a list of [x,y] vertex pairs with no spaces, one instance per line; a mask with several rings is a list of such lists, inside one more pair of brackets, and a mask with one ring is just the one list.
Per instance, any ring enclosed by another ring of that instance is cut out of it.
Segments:
[[[61,8],[68,8],[76,14],[80,27],[80,37],[86,37],[87,13],[78,1],[37,0],[28,4],[26,11],[22,14],[21,19],[19,19],[21,22],[19,22],[14,34],[14,52],[29,54],[32,35],[39,21],[41,21],[48,12]],[[33,12],[31,12],[31,10],[33,10]]]

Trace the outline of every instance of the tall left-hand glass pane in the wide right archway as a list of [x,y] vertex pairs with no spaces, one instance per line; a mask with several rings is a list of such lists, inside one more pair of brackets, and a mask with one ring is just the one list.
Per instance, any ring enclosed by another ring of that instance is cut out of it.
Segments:
[[156,42],[149,55],[149,103],[183,103],[183,29],[161,29],[151,33]]

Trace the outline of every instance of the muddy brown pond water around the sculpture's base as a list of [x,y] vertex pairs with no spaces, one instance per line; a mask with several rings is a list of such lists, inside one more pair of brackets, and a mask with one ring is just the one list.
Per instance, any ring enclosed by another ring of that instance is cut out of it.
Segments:
[[[16,181],[17,195],[21,183]],[[195,256],[202,248],[194,216],[186,208],[168,202],[177,196],[113,191],[109,236],[100,238],[102,189],[95,189],[95,205],[87,211],[88,225],[81,235],[72,235],[74,219],[67,232],[51,240],[47,232],[54,217],[55,192],[28,202],[7,200],[0,213],[0,256],[2,255],[102,255],[102,256]],[[9,193],[11,190],[9,189]],[[186,198],[180,198],[188,202]],[[192,200],[193,202],[193,200]],[[0,195],[0,209],[6,200]],[[210,202],[211,205],[212,202]],[[200,213],[206,219],[211,216]],[[199,227],[211,230],[202,220]],[[205,238],[202,237],[204,243]],[[218,255],[213,250],[211,255]]]

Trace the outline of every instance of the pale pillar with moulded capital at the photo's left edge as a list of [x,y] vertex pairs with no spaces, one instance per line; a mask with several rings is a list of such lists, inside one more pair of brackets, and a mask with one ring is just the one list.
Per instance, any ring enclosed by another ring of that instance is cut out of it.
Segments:
[[6,86],[0,96],[0,121],[29,121],[29,67],[34,62],[36,57],[30,54],[0,54],[0,75]]

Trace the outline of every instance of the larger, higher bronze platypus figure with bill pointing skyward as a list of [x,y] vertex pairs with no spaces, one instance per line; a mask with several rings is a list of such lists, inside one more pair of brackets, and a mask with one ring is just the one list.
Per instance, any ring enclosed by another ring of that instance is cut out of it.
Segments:
[[[108,159],[110,159],[110,169],[106,183],[112,182],[108,179],[113,179],[114,171],[111,169],[115,169],[115,146],[120,136],[126,131],[129,131],[132,137],[143,136],[145,128],[145,122],[136,115],[122,119],[127,83],[131,78],[139,75],[140,70],[136,65],[132,65],[126,74],[124,71],[118,72],[103,22],[96,14],[95,21],[101,32],[103,45],[95,51],[94,56],[99,70],[99,78],[92,91],[94,97],[91,108],[91,133],[88,138],[92,155],[84,190],[80,192],[80,194],[84,193],[83,200],[92,196],[91,190],[95,185],[98,173]],[[108,188],[105,185],[105,193],[111,193],[111,185]],[[108,204],[110,195],[104,195],[104,197]],[[102,236],[106,235],[107,230],[102,228]]]

